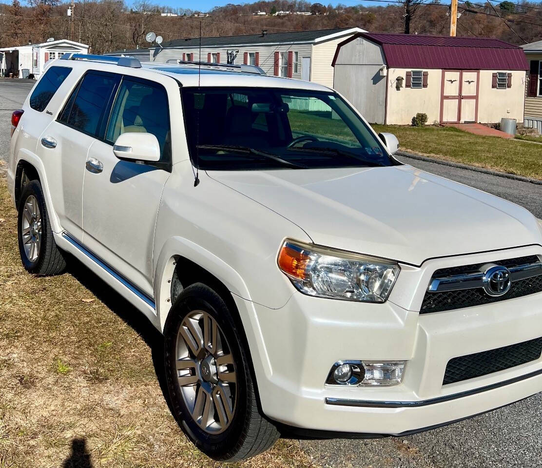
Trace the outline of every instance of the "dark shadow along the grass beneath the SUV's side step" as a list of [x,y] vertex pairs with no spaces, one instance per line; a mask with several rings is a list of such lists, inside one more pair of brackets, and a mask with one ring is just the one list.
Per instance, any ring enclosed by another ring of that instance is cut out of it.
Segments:
[[71,255],[66,256],[67,273],[73,275],[75,279],[91,291],[94,296],[101,300],[109,309],[130,326],[138,335],[143,338],[145,344],[151,350],[151,358],[154,366],[154,372],[160,384],[160,390],[164,395],[167,406],[170,411],[171,402],[165,377],[164,367],[164,337],[149,322],[142,312],[130,304],[111,286],[100,279],[96,274],[83,265],[78,259]]

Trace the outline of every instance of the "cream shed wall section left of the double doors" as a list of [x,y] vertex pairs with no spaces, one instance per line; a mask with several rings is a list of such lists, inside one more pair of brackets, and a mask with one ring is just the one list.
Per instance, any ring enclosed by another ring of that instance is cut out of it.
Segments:
[[[418,112],[427,114],[427,123],[440,121],[442,70],[424,70],[428,72],[427,88],[406,88],[406,72],[411,68],[388,69],[388,113],[386,123],[390,125],[408,125]],[[403,86],[396,88],[397,78],[403,78]]]

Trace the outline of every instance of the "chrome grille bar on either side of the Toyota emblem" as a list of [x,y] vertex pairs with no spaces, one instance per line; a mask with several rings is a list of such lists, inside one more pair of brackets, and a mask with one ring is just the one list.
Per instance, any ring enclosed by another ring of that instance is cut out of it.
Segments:
[[[485,265],[486,268],[497,266],[496,264]],[[508,268],[511,280],[519,281],[521,279],[532,278],[542,274],[542,262],[533,264],[519,265]],[[464,289],[476,289],[484,286],[484,277],[486,271],[476,273],[450,275],[442,278],[433,278],[427,288],[428,292],[461,291]]]

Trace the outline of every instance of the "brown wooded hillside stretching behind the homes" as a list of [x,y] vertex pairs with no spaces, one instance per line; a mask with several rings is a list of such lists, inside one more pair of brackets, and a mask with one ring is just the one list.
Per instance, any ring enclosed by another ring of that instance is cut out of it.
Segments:
[[[374,0],[373,0],[374,1]],[[326,7],[303,0],[258,1],[250,4],[217,7],[201,17],[195,11],[172,9],[136,0],[76,2],[73,15],[67,16],[69,3],[58,0],[29,0],[23,7],[18,0],[0,5],[0,47],[55,39],[73,39],[91,46],[91,53],[100,54],[118,49],[147,47],[145,34],[154,31],[164,41],[196,37],[199,24],[203,36],[256,34],[292,30],[328,29],[358,26],[370,31],[402,33],[405,22],[411,34],[449,33],[449,5],[434,0],[396,0],[382,6],[359,7],[338,5]],[[254,14],[264,11],[266,15]],[[273,16],[275,12],[288,14]],[[496,37],[515,44],[542,39],[542,2],[493,1],[461,2],[457,20],[458,36]],[[161,13],[178,16],[162,16]],[[299,15],[295,12],[311,12]],[[72,36],[73,25],[73,36]],[[408,26],[408,25],[407,25]]]

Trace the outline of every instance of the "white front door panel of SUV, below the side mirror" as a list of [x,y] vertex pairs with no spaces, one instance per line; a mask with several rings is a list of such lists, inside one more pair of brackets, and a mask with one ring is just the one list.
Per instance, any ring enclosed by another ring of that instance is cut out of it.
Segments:
[[83,243],[152,298],[154,226],[170,173],[121,161],[112,145],[98,140],[88,152],[91,158],[97,159],[103,170],[97,174],[85,170]]

